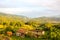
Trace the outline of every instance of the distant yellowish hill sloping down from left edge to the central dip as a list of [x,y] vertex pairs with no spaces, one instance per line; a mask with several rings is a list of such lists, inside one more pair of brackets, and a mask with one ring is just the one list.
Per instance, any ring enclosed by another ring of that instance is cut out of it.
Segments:
[[29,18],[26,17],[26,16],[13,15],[13,14],[5,14],[5,13],[0,13],[0,17],[5,17],[7,19],[13,19],[13,20],[22,20],[24,22],[26,22],[27,19],[29,20]]

